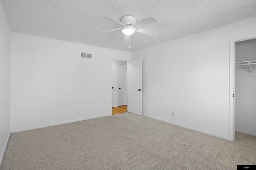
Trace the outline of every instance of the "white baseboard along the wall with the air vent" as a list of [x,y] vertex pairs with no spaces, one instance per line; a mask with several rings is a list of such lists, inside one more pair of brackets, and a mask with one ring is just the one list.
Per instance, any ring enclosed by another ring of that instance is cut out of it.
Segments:
[[43,128],[43,127],[62,125],[62,124],[66,124],[66,123],[73,123],[73,122],[76,122],[76,121],[95,119],[95,118],[105,117],[105,116],[110,116],[110,115],[100,115],[100,116],[95,116],[95,117],[87,117],[87,118],[83,118],[83,119],[75,119],[75,120],[71,120],[71,121],[63,121],[63,122],[58,122],[58,123],[52,123],[52,124],[48,124],[48,125],[34,126],[34,127],[23,128],[23,129],[16,129],[16,130],[11,130],[11,133],[29,131],[29,130],[33,130],[33,129],[40,129],[40,128]]

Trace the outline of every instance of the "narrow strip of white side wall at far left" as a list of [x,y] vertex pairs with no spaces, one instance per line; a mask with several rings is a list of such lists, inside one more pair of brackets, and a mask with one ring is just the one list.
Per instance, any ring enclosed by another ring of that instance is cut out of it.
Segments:
[[11,31],[0,1],[0,165],[10,136]]

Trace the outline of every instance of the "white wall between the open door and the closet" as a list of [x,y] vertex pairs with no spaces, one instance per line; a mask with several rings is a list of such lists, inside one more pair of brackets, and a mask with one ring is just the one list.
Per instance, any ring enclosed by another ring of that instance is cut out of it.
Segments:
[[256,18],[132,52],[143,115],[229,139],[229,39],[252,33]]

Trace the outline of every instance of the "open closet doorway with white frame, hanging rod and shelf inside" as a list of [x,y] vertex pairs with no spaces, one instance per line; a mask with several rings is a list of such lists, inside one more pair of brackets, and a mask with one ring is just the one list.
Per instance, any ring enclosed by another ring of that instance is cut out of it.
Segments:
[[230,141],[256,136],[256,34],[230,39]]

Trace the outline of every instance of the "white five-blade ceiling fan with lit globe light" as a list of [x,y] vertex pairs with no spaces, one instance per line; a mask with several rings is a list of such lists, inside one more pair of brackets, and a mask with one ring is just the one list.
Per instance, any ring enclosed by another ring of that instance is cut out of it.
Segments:
[[158,35],[158,33],[154,32],[154,31],[150,31],[148,29],[138,27],[140,25],[144,25],[147,23],[156,22],[157,20],[154,17],[146,18],[146,19],[143,19],[140,21],[136,21],[136,18],[134,16],[123,16],[120,19],[120,21],[115,20],[114,18],[111,18],[111,17],[103,17],[103,18],[110,20],[114,23],[118,23],[119,25],[122,25],[123,27],[109,29],[106,31],[100,31],[98,33],[106,33],[106,32],[110,32],[110,31],[116,31],[116,30],[122,29],[122,32],[124,33],[124,42],[130,41],[130,35],[132,35],[135,31],[139,32],[139,33],[144,33],[146,35],[151,35],[153,37],[156,37]]

